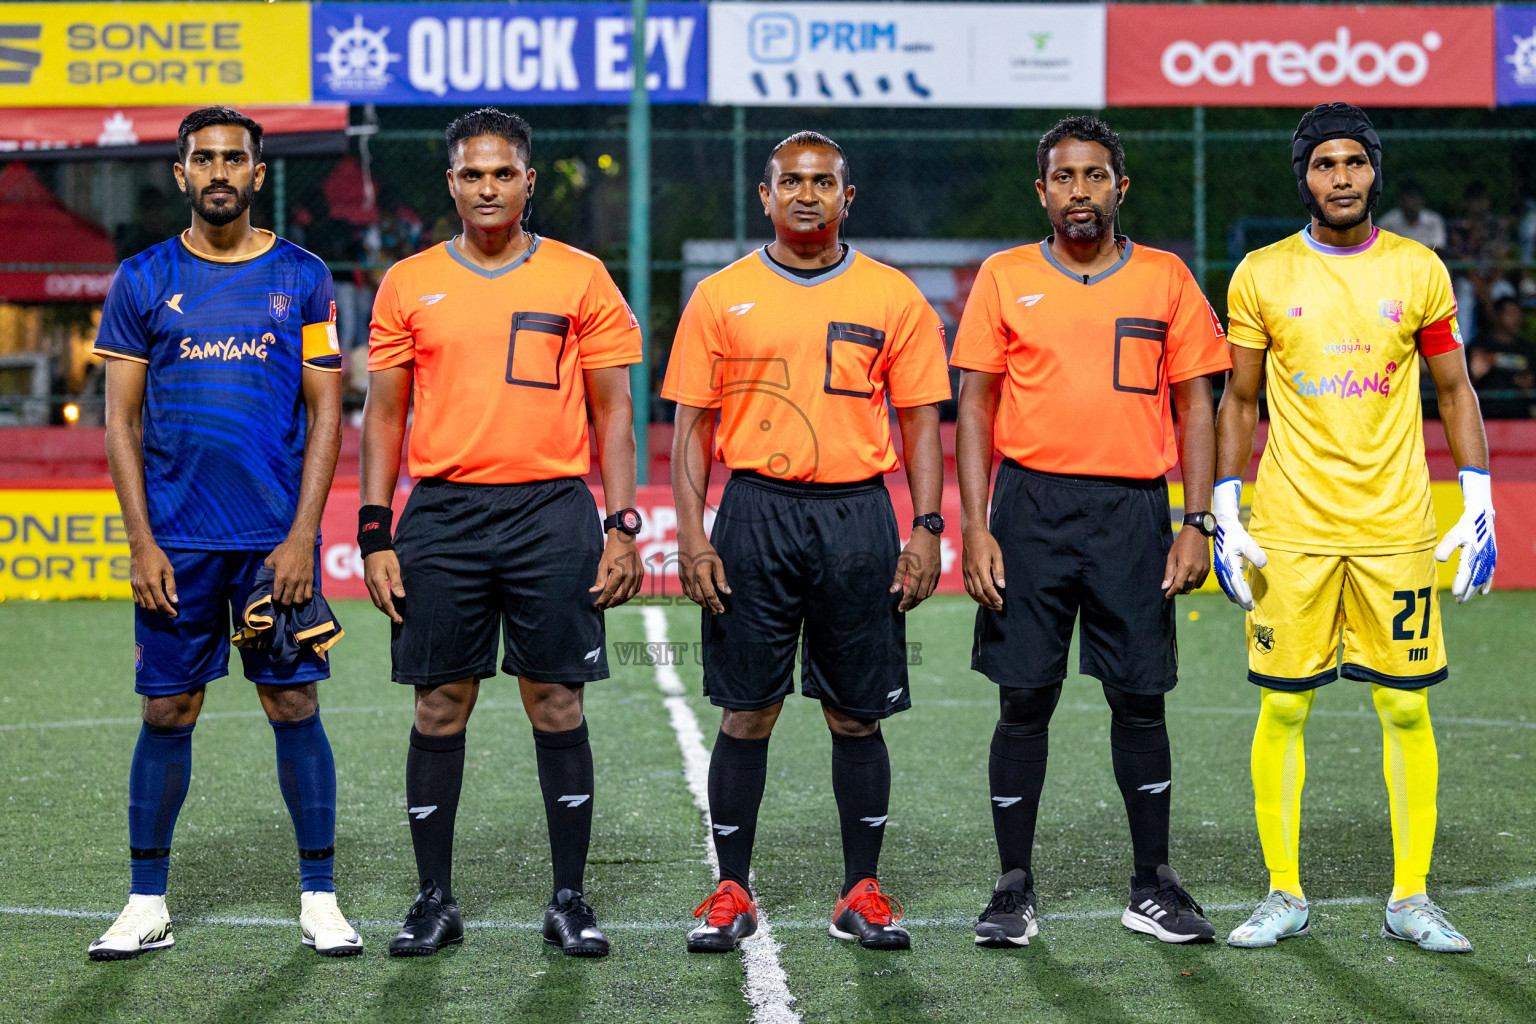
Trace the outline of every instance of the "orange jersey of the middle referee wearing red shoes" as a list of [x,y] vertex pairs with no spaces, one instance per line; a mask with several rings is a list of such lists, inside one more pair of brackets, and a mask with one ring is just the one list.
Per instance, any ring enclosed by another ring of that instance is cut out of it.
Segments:
[[949,398],[945,329],[900,270],[849,249],[797,278],[766,247],[699,282],[662,398],[719,408],[716,457],[785,481],[846,484],[895,468],[886,398]]

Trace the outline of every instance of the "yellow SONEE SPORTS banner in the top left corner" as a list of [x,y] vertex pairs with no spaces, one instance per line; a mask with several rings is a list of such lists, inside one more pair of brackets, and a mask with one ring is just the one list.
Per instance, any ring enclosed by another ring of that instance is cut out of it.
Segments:
[[0,107],[309,103],[307,3],[0,3]]

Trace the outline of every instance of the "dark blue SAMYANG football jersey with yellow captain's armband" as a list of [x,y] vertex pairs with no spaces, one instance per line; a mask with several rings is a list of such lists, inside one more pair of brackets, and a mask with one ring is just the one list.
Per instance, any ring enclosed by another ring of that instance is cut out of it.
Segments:
[[304,367],[341,370],[335,309],[326,264],[275,235],[238,261],[172,238],[118,267],[95,352],[149,367],[144,485],[157,543],[267,550],[287,537],[304,464]]

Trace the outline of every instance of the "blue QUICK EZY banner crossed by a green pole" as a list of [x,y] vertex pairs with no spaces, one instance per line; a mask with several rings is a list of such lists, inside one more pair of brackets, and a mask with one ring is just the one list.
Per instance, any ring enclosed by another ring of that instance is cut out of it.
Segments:
[[[628,3],[316,3],[315,100],[628,103]],[[651,3],[653,103],[705,101],[705,5]]]

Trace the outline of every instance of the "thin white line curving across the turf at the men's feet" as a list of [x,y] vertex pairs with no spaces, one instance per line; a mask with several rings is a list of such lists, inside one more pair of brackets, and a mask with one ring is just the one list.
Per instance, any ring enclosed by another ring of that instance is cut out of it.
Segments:
[[[1445,889],[1439,895],[1442,897],[1478,897],[1487,894],[1499,892],[1521,892],[1536,889],[1536,878],[1516,878],[1513,881],[1496,881],[1491,886],[1462,886],[1461,889]],[[1307,906],[1313,907],[1353,907],[1366,906],[1372,903],[1379,903],[1385,906],[1387,898],[1384,895],[1375,897],[1326,897],[1322,900],[1310,900]],[[1247,910],[1256,903],[1221,903],[1210,904],[1206,910]],[[1058,913],[1041,913],[1041,921],[1103,921],[1109,918],[1118,918],[1124,907],[1100,909],[1100,910],[1061,910]],[[0,906],[0,915],[12,917],[40,917],[40,918],[71,918],[83,921],[111,921],[117,917],[115,910],[63,910],[58,907],[6,907]],[[759,921],[762,918],[759,917]],[[296,927],[298,918],[258,918],[258,917],[174,917],[175,924],[214,924],[226,927]],[[974,917],[952,913],[946,917],[935,918],[903,918],[903,926],[929,929],[929,927],[962,927],[975,923]],[[399,921],[355,921],[358,927],[389,930],[393,932],[399,927]],[[542,927],[536,921],[465,921],[467,929],[481,929],[488,932],[531,932]],[[619,923],[604,923],[602,926],[610,932],[670,932],[676,929],[688,927],[684,921],[619,921]],[[791,932],[799,930],[820,930],[826,927],[826,921],[777,921],[774,924],[777,929],[785,929]],[[750,943],[751,940],[748,940]],[[746,943],[743,943],[745,946]],[[793,998],[793,996],[791,996]],[[793,1013],[793,1010],[790,1010]],[[768,1019],[768,1018],[763,1018]],[[799,1019],[799,1015],[793,1018],[782,1019]]]

